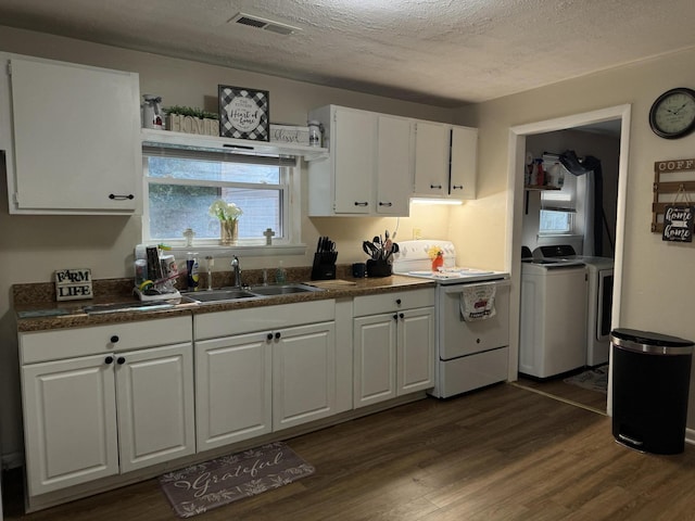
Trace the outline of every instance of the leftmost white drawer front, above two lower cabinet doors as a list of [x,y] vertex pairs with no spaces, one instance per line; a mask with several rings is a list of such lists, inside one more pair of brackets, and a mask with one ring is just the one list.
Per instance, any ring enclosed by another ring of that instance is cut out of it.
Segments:
[[21,364],[190,342],[190,317],[20,333]]

